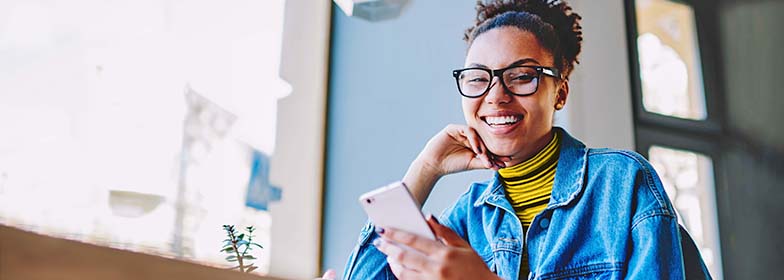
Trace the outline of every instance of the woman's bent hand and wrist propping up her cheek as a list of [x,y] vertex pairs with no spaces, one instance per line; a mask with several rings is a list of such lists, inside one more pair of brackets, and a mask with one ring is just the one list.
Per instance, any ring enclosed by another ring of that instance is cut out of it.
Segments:
[[473,128],[450,124],[427,142],[403,182],[422,206],[442,176],[472,169],[498,170],[510,160],[490,153]]

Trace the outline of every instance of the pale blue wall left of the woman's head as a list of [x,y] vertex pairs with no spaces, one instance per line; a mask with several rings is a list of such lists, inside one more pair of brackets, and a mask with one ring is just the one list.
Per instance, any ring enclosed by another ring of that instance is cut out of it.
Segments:
[[[366,220],[357,198],[400,180],[431,136],[464,123],[451,70],[475,1],[409,1],[399,18],[368,22],[333,7],[322,267],[340,275]],[[440,213],[488,171],[443,178],[425,213]]]

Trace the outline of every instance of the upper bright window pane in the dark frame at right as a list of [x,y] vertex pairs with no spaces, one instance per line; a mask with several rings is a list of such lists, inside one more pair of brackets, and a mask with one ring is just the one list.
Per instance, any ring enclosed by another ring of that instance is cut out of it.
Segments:
[[676,1],[639,0],[635,11],[643,107],[671,117],[706,119],[693,9]]

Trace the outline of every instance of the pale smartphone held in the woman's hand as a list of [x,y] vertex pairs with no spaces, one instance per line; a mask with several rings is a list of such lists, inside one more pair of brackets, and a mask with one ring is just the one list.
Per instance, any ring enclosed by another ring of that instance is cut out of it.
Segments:
[[359,197],[370,221],[382,228],[395,228],[436,240],[414,197],[402,182],[394,182]]

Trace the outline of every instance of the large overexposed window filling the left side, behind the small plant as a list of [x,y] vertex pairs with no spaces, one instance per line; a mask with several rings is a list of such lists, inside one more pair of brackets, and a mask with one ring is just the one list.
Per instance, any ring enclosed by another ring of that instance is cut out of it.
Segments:
[[266,273],[284,5],[2,1],[0,224]]

